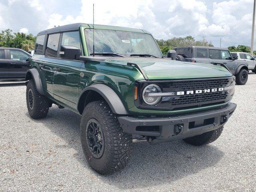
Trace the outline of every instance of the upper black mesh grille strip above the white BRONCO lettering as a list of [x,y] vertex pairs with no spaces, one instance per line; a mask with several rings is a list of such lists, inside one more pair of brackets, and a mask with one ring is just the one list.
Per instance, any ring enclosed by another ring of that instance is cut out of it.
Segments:
[[193,80],[170,82],[170,88],[177,91],[226,87],[229,79]]

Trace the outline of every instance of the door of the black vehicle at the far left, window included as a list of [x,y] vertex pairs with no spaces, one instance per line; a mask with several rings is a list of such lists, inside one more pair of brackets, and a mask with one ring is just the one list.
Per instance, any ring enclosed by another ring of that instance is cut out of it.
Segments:
[[9,76],[11,78],[25,78],[30,69],[31,56],[21,50],[7,50],[9,59]]

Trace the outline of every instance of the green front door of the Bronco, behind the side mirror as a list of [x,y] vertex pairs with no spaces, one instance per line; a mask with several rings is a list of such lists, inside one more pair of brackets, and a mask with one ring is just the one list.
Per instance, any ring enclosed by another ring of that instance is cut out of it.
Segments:
[[[62,45],[81,49],[78,31],[64,32],[60,35],[59,49]],[[84,62],[61,59],[58,53],[54,69],[54,98],[76,110],[78,103],[78,85],[80,84],[80,67]]]

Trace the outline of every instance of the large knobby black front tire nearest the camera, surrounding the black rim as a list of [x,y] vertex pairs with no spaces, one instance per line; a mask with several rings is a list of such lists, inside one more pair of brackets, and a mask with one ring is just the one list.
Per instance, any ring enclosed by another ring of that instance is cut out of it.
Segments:
[[[103,130],[104,151],[95,158],[89,148],[86,127],[95,119]],[[80,123],[82,148],[90,166],[100,174],[111,174],[126,166],[132,155],[132,135],[126,134],[118,122],[116,114],[105,101],[94,101],[84,108]]]

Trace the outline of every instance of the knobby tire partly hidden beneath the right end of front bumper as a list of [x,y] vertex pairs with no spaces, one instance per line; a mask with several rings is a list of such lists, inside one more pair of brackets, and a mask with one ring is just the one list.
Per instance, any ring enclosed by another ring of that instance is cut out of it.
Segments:
[[186,143],[195,145],[195,146],[206,145],[206,144],[214,142],[216,139],[218,139],[220,134],[222,133],[222,130],[223,130],[223,126],[221,126],[220,128],[218,128],[216,130],[209,131],[209,132],[203,133],[201,135],[196,135],[194,137],[189,137],[189,138],[186,138],[183,140]]

